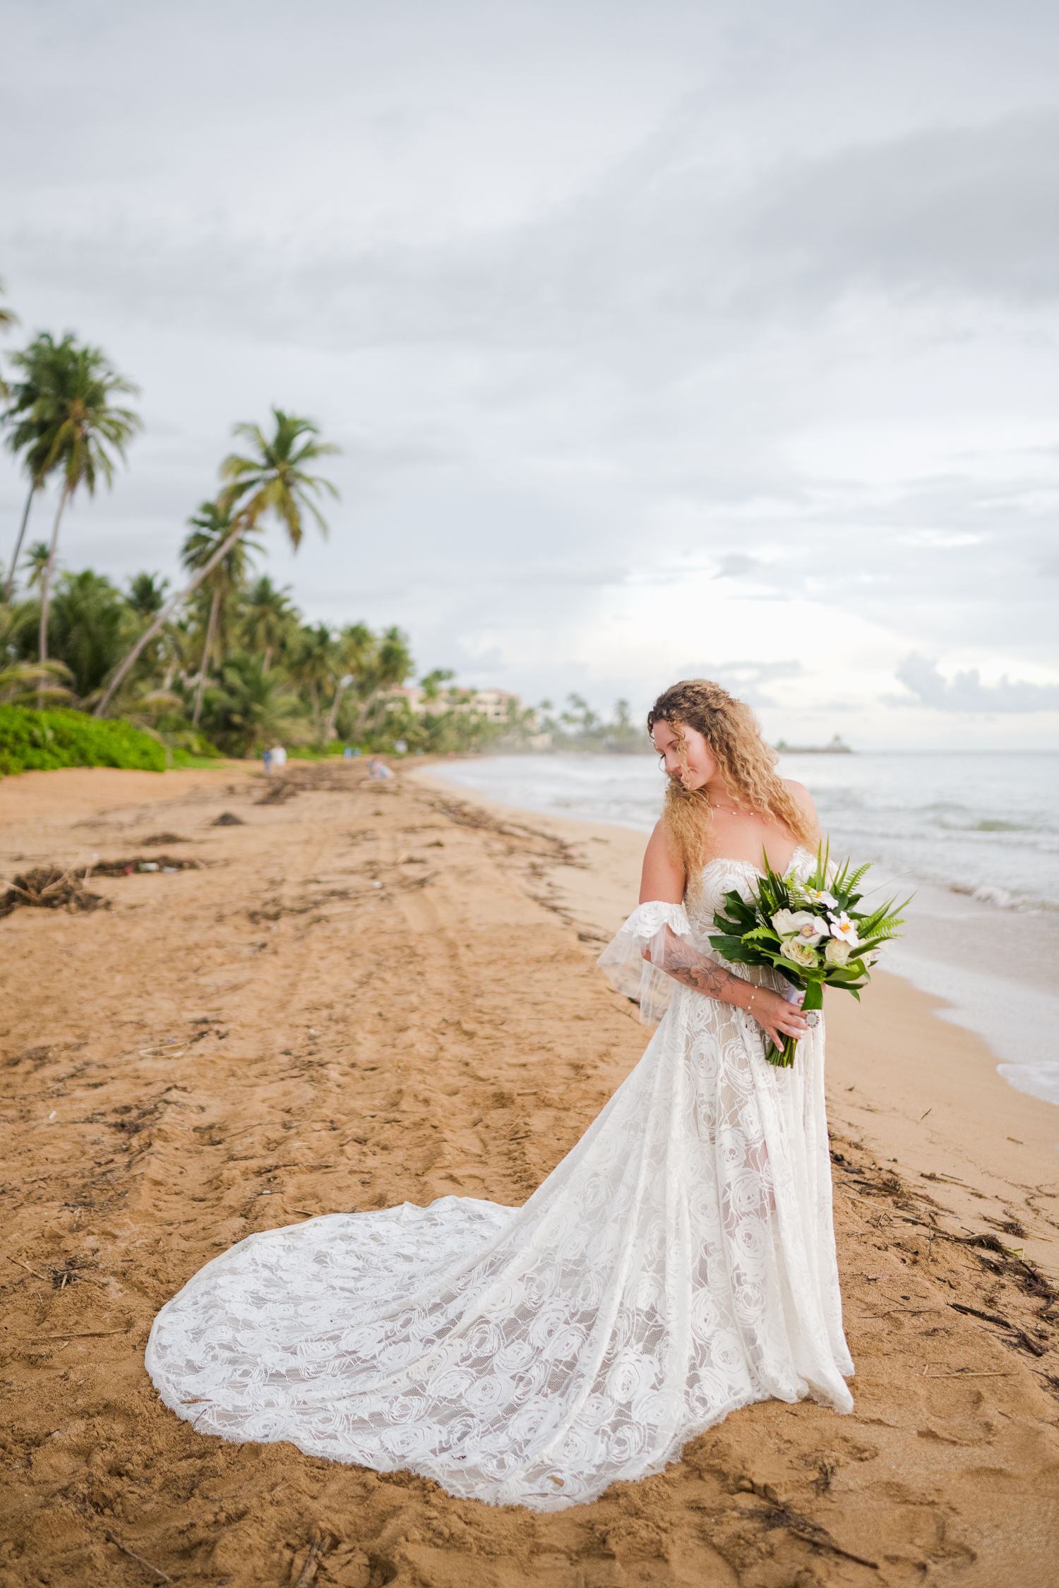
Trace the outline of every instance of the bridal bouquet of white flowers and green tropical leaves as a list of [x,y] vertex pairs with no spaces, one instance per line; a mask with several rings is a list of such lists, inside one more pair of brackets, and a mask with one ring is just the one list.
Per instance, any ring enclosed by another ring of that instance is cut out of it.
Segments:
[[[861,988],[872,980],[868,966],[880,956],[883,943],[897,937],[905,908],[888,899],[875,910],[857,910],[857,891],[868,865],[849,870],[849,861],[835,869],[822,848],[816,854],[816,870],[803,883],[794,875],[776,875],[765,856],[765,875],[749,899],[732,891],[724,896],[724,912],[713,918],[716,932],[710,942],[734,964],[772,966],[794,988],[805,992],[805,1012],[824,1007],[824,988],[843,988],[861,1000]],[[814,1021],[810,1021],[814,1024]],[[797,1039],[788,1037],[783,1048],[768,1043],[770,1064],[794,1064]]]

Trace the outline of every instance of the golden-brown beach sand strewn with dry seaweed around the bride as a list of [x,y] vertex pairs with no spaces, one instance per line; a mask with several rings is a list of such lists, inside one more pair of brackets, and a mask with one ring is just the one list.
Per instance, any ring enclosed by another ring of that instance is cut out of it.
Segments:
[[218,1250],[352,1207],[521,1204],[649,1035],[594,964],[637,834],[289,770],[268,804],[243,767],[0,783],[6,878],[202,862],[0,921],[0,1588],[1054,1583],[1059,1110],[894,977],[827,1007],[851,1416],[751,1407],[540,1517],[159,1404],[151,1320]]

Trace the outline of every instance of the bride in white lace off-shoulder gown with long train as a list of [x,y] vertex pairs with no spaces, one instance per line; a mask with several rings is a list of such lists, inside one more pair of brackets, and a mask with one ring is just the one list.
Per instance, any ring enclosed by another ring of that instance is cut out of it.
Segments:
[[[648,729],[665,810],[600,956],[660,1019],[640,1064],[521,1208],[332,1213],[206,1264],[146,1353],[200,1432],[559,1510],[753,1401],[851,1410],[822,1021],[707,937],[762,850],[808,873],[813,802],[718,684],[667,689]],[[792,1069],[765,1061],[767,1035],[802,1039]]]

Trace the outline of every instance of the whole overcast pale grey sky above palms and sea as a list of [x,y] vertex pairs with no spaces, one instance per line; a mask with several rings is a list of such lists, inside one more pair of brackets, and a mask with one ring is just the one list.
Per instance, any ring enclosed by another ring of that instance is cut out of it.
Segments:
[[[76,330],[146,421],[68,565],[173,575],[275,402],[341,503],[268,572],[424,670],[1059,742],[1054,5],[6,0],[3,33],[6,346]],[[2,557],[22,494],[5,456]]]

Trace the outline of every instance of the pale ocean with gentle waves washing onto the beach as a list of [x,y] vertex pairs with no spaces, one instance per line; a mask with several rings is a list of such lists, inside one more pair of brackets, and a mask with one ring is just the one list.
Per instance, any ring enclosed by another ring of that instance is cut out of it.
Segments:
[[[1019,1091],[1059,1105],[1059,753],[865,751],[783,756],[813,794],[832,856],[873,861],[915,891],[884,969],[951,1007]],[[489,756],[432,767],[487,799],[649,832],[653,756]]]

